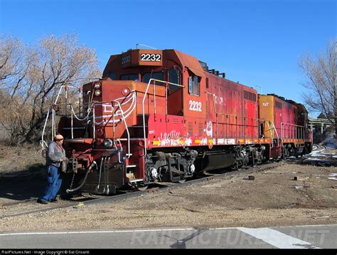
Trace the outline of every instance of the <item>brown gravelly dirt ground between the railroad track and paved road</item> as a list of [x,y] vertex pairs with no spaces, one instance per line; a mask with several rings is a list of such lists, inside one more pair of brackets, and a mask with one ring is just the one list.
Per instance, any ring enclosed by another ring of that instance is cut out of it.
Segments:
[[[43,188],[38,175],[16,182],[17,188],[9,188],[8,183],[13,182],[3,179],[0,189],[0,217],[23,210],[37,212],[0,218],[0,232],[336,224],[335,174],[337,167],[333,166],[280,163],[277,168],[260,172],[241,172],[183,188],[149,192],[127,200],[77,205],[48,212],[40,212],[39,210],[48,205],[40,205],[35,200],[5,205],[7,202],[37,196]],[[248,175],[254,175],[255,180],[247,180]],[[30,183],[31,189],[24,186],[18,188],[22,183]],[[69,202],[58,203],[66,205]]]

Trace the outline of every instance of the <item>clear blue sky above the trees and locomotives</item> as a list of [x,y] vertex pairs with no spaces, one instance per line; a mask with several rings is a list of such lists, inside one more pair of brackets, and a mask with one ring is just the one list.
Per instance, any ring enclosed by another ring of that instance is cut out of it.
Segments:
[[102,70],[137,43],[176,49],[262,94],[303,102],[299,60],[336,38],[336,1],[0,0],[0,33],[27,44],[75,34]]

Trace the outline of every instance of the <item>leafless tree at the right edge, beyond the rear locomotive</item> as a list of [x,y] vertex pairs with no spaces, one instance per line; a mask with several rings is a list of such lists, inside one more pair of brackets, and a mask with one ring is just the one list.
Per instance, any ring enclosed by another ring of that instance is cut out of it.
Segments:
[[303,94],[306,106],[309,111],[322,112],[335,125],[337,137],[336,45],[336,40],[331,41],[326,53],[316,59],[307,54],[301,58],[299,66],[308,78],[304,84],[308,92]]

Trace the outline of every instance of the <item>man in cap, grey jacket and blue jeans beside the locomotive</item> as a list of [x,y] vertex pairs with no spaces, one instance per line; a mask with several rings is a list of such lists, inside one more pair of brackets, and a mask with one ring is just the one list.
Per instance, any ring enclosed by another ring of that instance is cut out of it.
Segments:
[[38,198],[37,202],[41,204],[57,201],[56,195],[62,183],[62,179],[60,178],[61,162],[66,160],[65,149],[62,147],[62,143],[63,136],[58,134],[48,145],[46,153],[48,184],[43,196]]

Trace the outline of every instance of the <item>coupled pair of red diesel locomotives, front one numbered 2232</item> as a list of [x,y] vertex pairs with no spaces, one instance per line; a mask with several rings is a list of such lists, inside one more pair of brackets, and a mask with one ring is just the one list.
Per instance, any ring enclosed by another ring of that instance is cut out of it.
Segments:
[[111,55],[102,79],[82,86],[81,105],[81,117],[70,104],[58,124],[70,193],[112,195],[311,152],[302,104],[258,94],[178,50]]

